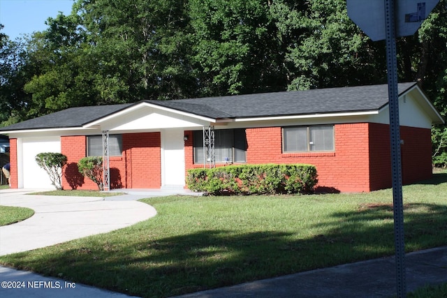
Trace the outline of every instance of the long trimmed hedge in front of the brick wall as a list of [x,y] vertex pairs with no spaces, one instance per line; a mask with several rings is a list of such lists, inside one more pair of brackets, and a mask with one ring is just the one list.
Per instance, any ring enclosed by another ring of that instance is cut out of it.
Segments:
[[305,194],[314,192],[317,176],[314,165],[228,165],[188,170],[186,184],[210,195]]

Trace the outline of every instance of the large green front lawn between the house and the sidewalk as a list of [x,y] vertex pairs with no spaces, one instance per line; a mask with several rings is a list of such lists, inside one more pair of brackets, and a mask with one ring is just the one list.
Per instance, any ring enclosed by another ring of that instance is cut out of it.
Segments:
[[[447,244],[447,173],[404,186],[406,251]],[[0,263],[141,297],[169,297],[394,254],[390,189],[142,200],[129,228]]]

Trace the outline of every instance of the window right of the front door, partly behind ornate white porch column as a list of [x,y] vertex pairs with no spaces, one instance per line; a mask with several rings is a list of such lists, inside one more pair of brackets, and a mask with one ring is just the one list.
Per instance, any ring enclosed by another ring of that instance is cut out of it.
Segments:
[[[203,163],[203,154],[203,131],[194,131],[194,163]],[[247,161],[245,130],[222,129],[214,131],[214,155],[216,163],[245,163]]]

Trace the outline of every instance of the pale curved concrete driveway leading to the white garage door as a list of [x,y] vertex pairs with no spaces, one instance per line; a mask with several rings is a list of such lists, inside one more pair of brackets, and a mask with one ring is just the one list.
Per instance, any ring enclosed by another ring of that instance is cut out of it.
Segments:
[[135,200],[27,195],[32,191],[0,191],[0,205],[28,207],[35,212],[25,221],[0,227],[0,255],[110,232],[156,215],[153,207]]

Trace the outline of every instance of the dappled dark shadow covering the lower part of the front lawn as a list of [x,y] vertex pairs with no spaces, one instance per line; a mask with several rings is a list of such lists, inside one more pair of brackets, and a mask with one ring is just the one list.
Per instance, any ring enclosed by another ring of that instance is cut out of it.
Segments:
[[[404,209],[409,246],[436,246],[435,241],[446,239],[446,206],[406,204]],[[159,216],[168,217],[161,223],[169,224],[186,215]],[[200,225],[194,223],[193,232],[174,236],[154,233],[159,225],[149,220],[110,233],[115,237],[88,237],[39,253],[9,255],[7,260],[8,265],[128,295],[170,297],[393,255],[391,218],[391,204],[362,203],[356,210],[321,218],[320,223],[306,230],[297,225],[288,232],[263,231],[259,223],[253,232],[210,228],[215,218]],[[173,224],[173,230],[182,230],[181,226]]]

